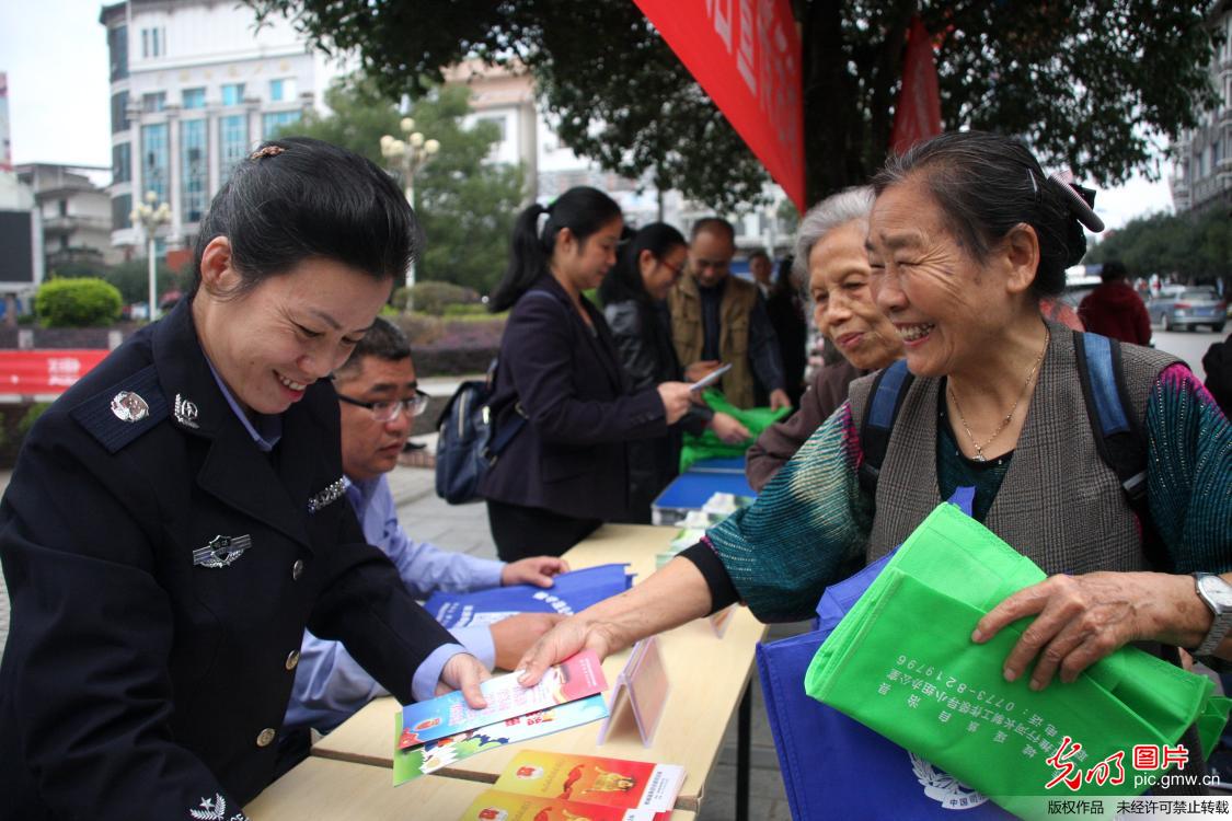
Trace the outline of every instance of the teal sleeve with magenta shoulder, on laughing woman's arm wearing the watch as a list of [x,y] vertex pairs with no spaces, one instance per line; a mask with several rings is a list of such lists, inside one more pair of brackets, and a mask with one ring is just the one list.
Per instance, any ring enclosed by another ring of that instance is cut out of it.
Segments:
[[1181,364],[1151,390],[1147,500],[1178,572],[1232,570],[1232,423]]

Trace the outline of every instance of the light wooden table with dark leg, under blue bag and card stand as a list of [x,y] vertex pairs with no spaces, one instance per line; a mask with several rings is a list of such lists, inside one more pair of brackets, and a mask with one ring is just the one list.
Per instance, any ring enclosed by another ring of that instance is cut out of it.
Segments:
[[[654,570],[654,554],[663,550],[675,534],[675,528],[642,524],[605,524],[589,539],[565,554],[573,567],[625,561],[638,580]],[[740,748],[738,773],[747,787],[748,777],[748,698],[747,688],[753,670],[754,649],[766,633],[744,608],[729,619],[723,638],[715,634],[708,619],[697,619],[660,635],[670,692],[663,719],[652,747],[642,746],[631,715],[623,715],[609,732],[607,741],[598,746],[600,723],[535,739],[527,743],[537,750],[654,761],[683,764],[686,771],[676,807],[697,811],[702,789],[718,758],[728,719],[740,708]],[[604,662],[609,683],[623,668],[628,651],[610,656]],[[334,732],[322,739],[313,755],[354,763],[393,767],[393,715],[400,709],[392,698],[370,703]],[[492,783],[517,752],[517,745],[457,762],[440,771],[452,778]],[[747,789],[744,793],[747,806]],[[740,801],[738,800],[738,804]],[[742,815],[738,812],[738,815]]]

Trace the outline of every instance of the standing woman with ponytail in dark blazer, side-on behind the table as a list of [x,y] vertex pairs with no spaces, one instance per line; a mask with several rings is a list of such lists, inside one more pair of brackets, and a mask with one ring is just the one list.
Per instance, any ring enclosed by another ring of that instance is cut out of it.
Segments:
[[[540,220],[542,226],[540,225]],[[616,262],[620,207],[577,187],[514,228],[493,310],[513,308],[492,400],[499,430],[527,421],[479,486],[505,561],[559,555],[628,510],[626,442],[663,436],[689,385],[632,390],[604,315],[583,294]]]

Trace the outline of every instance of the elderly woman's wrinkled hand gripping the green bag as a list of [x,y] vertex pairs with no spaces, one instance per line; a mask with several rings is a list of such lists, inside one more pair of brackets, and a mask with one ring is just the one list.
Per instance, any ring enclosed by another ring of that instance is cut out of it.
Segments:
[[1082,671],[1140,639],[1164,640],[1175,627],[1173,602],[1193,588],[1188,576],[1147,572],[1093,572],[1051,576],[1025,587],[979,619],[971,640],[982,644],[1004,627],[1035,615],[1009,657],[1005,679],[1015,681],[1035,661],[1031,689],[1044,689],[1058,673],[1071,683]]

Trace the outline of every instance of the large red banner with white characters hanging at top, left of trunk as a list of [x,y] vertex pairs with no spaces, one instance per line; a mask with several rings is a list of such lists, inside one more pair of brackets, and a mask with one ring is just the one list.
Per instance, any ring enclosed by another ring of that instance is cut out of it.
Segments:
[[788,0],[633,1],[803,212],[800,34]]

